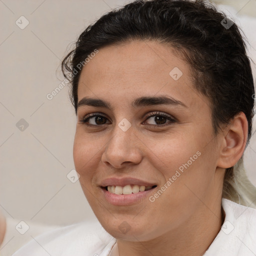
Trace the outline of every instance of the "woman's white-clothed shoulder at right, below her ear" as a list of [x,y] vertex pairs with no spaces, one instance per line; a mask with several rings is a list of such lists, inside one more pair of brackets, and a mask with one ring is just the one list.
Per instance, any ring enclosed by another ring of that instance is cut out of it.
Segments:
[[205,256],[255,256],[256,209],[222,198],[225,219]]

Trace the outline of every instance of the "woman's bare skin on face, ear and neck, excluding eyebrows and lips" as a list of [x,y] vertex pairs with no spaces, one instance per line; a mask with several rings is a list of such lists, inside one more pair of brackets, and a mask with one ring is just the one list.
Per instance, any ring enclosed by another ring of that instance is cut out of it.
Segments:
[[[178,80],[169,75],[174,67],[183,73]],[[186,107],[131,107],[137,97],[159,95],[171,96]],[[170,46],[155,41],[100,48],[82,69],[78,102],[83,97],[100,98],[112,106],[112,110],[79,106],[73,145],[83,192],[101,225],[117,239],[111,255],[202,255],[223,223],[224,171],[243,153],[245,115],[237,115],[215,136],[209,99],[193,88],[189,65]],[[157,123],[155,116],[147,118],[153,111],[176,121],[166,118]],[[105,118],[91,117],[87,120],[91,126],[86,126],[81,120],[95,112]],[[118,126],[123,118],[131,124],[125,132]],[[131,176],[160,188],[197,151],[200,156],[154,202],[145,198],[115,206],[102,195],[99,184],[110,176]],[[123,221],[130,226],[126,233],[118,228]]]

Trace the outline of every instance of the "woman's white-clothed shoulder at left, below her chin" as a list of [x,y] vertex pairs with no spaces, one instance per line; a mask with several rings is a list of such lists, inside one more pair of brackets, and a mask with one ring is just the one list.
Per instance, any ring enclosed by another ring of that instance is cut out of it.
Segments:
[[32,237],[12,256],[91,256],[114,242],[99,222],[80,222]]

